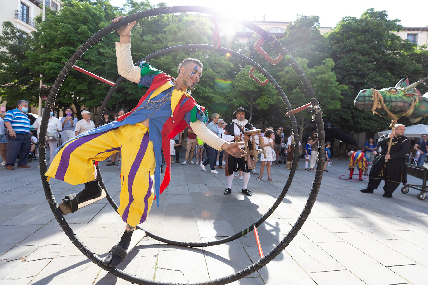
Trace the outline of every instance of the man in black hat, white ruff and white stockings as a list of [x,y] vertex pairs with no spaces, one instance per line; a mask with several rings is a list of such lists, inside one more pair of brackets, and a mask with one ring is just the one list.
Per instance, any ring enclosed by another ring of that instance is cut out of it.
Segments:
[[[235,120],[232,120],[232,123],[229,123],[224,129],[223,133],[223,139],[227,142],[230,141],[239,141],[239,142],[248,142],[248,149],[252,149],[251,144],[251,136],[244,135],[244,131],[255,129],[252,124],[248,123],[248,119],[250,119],[250,112],[244,110],[244,108],[239,107],[236,109],[236,111],[232,114],[232,117],[236,116]],[[259,136],[256,136],[256,143],[259,144]],[[244,145],[239,146],[244,148]],[[256,163],[253,161],[253,157],[249,156],[247,157],[247,161],[244,160],[244,157],[241,158],[235,158],[233,156],[230,156],[229,154],[226,155],[226,165],[225,165],[225,175],[227,176],[227,189],[224,190],[225,195],[232,192],[232,182],[233,182],[233,172],[236,172],[238,170],[242,170],[244,173],[244,184],[242,187],[242,193],[247,194],[248,196],[251,196],[251,191],[247,189],[248,181],[250,180],[250,171],[253,168],[256,168]]]

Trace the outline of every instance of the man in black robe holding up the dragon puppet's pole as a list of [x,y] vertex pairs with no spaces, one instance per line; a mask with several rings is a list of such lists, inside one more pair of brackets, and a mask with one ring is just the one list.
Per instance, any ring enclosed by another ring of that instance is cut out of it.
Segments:
[[[397,189],[400,183],[407,182],[406,163],[404,156],[410,150],[410,140],[404,136],[405,126],[396,124],[395,129],[389,135],[380,136],[377,141],[379,151],[375,159],[373,159],[372,170],[370,170],[369,183],[367,188],[361,190],[363,193],[373,193],[377,189],[380,181],[385,180],[383,197],[391,198],[392,192]],[[391,149],[388,151],[389,141],[391,141]],[[385,161],[385,160],[388,161]]]

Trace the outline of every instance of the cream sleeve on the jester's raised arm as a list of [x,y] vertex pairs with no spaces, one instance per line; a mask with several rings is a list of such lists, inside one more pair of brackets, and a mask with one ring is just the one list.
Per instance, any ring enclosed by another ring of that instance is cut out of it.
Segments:
[[131,56],[131,44],[116,42],[117,73],[129,81],[138,83],[141,79],[141,68],[135,66]]

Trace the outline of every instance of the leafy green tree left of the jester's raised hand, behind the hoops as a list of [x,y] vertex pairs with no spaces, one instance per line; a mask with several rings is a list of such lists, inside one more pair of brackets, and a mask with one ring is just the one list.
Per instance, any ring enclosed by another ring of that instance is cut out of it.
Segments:
[[[24,67],[42,74],[44,84],[51,86],[65,62],[77,48],[95,32],[110,23],[119,9],[107,0],[66,0],[60,12],[46,10],[45,22],[32,33],[31,48],[25,55]],[[40,21],[40,19],[36,19]],[[77,66],[114,81],[117,78],[114,47],[116,36],[104,37],[103,41],[89,49],[77,62]],[[109,68],[106,68],[109,67]],[[113,68],[112,68],[113,67]],[[74,104],[77,111],[81,106],[99,106],[110,86],[78,71],[70,71],[57,96],[60,107]],[[114,101],[113,101],[114,102]]]

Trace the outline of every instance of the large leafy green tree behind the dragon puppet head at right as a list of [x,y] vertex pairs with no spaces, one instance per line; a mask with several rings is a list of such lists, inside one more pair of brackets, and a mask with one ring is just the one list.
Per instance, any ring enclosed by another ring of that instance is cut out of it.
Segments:
[[399,21],[388,20],[386,11],[368,9],[358,19],[343,18],[326,36],[330,57],[336,64],[333,70],[338,81],[348,85],[348,90],[342,94],[343,112],[329,114],[329,117],[345,132],[373,131],[389,126],[389,120],[353,106],[358,91],[391,87],[402,77],[412,75],[413,80],[417,80],[428,73],[418,62],[419,55],[426,53],[418,54],[414,45],[392,33],[403,29]]

